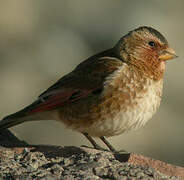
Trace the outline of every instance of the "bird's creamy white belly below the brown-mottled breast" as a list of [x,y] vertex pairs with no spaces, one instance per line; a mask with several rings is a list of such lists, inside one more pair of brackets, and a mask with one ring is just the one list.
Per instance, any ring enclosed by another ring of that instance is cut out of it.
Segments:
[[160,95],[150,88],[142,98],[133,99],[134,106],[126,106],[118,104],[120,107],[111,108],[101,119],[85,128],[85,132],[91,136],[114,136],[130,130],[136,130],[145,125],[145,123],[153,116],[160,105]]

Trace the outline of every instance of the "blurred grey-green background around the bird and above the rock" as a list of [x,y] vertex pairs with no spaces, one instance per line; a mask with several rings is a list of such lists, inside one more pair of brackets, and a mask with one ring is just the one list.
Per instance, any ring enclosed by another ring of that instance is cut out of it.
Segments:
[[[34,101],[87,57],[128,31],[152,26],[179,58],[167,64],[161,107],[147,125],[109,138],[118,149],[184,166],[184,1],[6,0],[0,6],[0,119]],[[11,128],[31,144],[89,145],[52,121]]]

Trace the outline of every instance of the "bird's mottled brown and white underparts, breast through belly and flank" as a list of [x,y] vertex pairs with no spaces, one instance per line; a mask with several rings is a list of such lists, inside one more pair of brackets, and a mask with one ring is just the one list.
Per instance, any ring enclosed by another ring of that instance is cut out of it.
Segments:
[[154,81],[124,65],[106,78],[99,95],[61,108],[59,120],[91,136],[114,136],[142,127],[156,112],[162,80]]

